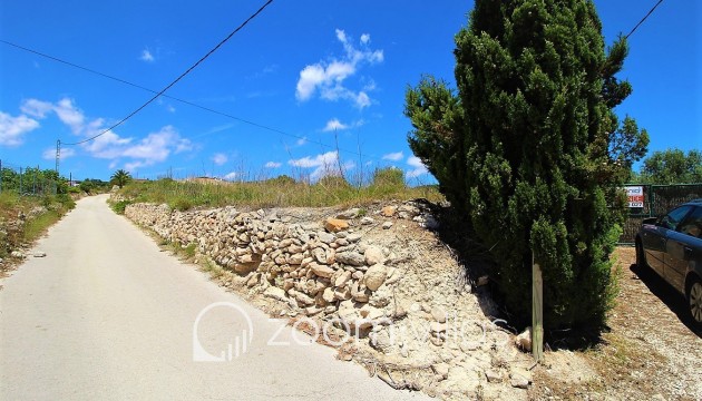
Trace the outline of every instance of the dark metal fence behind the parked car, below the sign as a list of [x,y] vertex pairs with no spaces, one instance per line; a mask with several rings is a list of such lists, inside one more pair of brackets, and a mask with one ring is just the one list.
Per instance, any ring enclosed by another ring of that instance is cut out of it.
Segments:
[[620,244],[624,245],[634,244],[644,218],[664,215],[680,204],[702,198],[702,184],[636,186],[643,187],[643,207],[630,208],[628,218],[623,227],[624,233],[620,237]]

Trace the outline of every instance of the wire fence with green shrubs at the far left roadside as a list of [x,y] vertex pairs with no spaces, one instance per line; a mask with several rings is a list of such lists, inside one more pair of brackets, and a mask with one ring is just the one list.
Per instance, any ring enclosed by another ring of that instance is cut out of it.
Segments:
[[14,193],[20,196],[56,195],[61,180],[52,169],[19,166],[0,160],[0,194]]

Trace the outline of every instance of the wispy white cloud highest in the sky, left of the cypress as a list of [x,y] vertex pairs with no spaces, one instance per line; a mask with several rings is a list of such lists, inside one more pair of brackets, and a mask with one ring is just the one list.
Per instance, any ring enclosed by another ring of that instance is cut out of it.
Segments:
[[[337,29],[337,39],[343,45],[345,55],[342,59],[332,58],[330,61],[320,61],[309,65],[300,71],[295,97],[305,101],[319,90],[320,98],[337,101],[344,99],[353,102],[360,109],[371,105],[371,99],[365,91],[354,91],[344,86],[347,78],[357,74],[361,63],[378,63],[384,59],[382,50],[357,49],[343,30]],[[370,36],[364,33],[361,43],[367,45]]]

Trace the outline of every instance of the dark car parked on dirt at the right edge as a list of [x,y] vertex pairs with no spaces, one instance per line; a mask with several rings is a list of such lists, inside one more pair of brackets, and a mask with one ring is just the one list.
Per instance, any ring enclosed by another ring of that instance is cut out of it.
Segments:
[[636,264],[651,267],[683,294],[692,321],[702,329],[702,199],[644,219],[636,235]]

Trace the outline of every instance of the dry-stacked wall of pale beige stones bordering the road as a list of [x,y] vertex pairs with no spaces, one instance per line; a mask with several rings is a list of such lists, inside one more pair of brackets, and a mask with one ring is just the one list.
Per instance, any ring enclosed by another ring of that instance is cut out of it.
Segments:
[[[390,206],[383,213],[426,222],[412,205]],[[349,209],[337,218],[292,224],[290,216],[279,216],[275,211],[223,207],[178,212],[154,204],[133,204],[125,209],[128,218],[172,243],[196,244],[201,255],[293,310],[305,315],[339,313],[350,322],[391,314],[363,310],[359,303],[373,309],[387,306],[389,286],[399,277],[397,270],[388,266],[394,255],[362,241],[358,228],[376,221],[361,214]],[[388,223],[383,227],[389,228]]]

